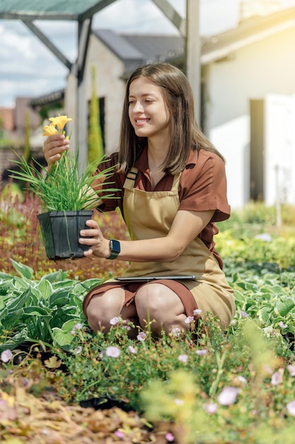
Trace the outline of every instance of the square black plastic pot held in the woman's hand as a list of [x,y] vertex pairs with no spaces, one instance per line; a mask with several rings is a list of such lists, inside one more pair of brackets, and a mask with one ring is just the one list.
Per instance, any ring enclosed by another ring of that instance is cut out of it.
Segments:
[[88,229],[86,221],[93,211],[50,211],[38,214],[43,242],[48,259],[83,257],[88,245],[79,243],[80,231]]

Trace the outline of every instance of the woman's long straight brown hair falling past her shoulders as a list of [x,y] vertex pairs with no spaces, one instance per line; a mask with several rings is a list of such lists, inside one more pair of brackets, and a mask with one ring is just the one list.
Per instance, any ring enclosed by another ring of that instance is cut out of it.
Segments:
[[170,174],[183,171],[190,150],[198,151],[201,148],[216,153],[224,160],[197,126],[192,88],[185,74],[170,63],[154,63],[137,68],[126,85],[119,145],[120,171],[128,171],[134,165],[147,143],[146,138],[139,138],[135,134],[129,120],[129,87],[139,77],[146,77],[161,89],[171,116],[170,149],[163,162],[163,171]]

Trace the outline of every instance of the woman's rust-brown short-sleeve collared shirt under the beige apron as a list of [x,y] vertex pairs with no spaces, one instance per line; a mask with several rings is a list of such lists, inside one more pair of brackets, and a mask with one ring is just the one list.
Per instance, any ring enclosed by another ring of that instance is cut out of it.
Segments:
[[[102,171],[107,167],[117,164],[117,152],[110,155],[110,158],[98,165],[98,171]],[[165,174],[165,176],[156,184],[153,189],[149,175],[149,162],[147,150],[144,149],[135,162],[138,168],[137,179],[134,187],[143,191],[169,191],[173,184],[173,175]],[[98,209],[101,211],[113,211],[117,206],[123,213],[123,197],[125,182],[125,173],[114,173],[108,182],[114,182],[112,187],[120,191],[115,193],[112,199],[105,199]],[[95,188],[99,182],[94,182]],[[215,210],[212,220],[199,233],[199,238],[207,245],[207,248],[213,252],[219,265],[222,267],[222,260],[214,248],[213,236],[219,232],[214,222],[224,221],[229,218],[231,209],[226,197],[226,173],[224,162],[214,152],[207,150],[192,151],[187,160],[187,165],[180,177],[179,184],[179,200],[180,210],[187,211],[209,211]],[[103,195],[100,195],[103,199]]]

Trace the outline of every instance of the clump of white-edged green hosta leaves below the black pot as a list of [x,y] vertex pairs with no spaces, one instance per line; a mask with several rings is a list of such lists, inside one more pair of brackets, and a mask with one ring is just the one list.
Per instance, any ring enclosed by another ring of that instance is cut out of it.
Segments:
[[74,324],[84,322],[83,296],[101,279],[77,282],[59,270],[34,281],[30,267],[11,262],[20,277],[0,273],[0,351],[28,341],[69,345]]

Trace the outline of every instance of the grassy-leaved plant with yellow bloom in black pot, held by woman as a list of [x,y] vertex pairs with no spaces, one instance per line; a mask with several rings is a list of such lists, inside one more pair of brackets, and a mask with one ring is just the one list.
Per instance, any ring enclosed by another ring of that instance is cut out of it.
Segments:
[[[43,135],[66,135],[64,128],[69,121],[71,118],[67,116],[50,118],[51,123],[44,127]],[[42,213],[38,214],[37,218],[47,257],[53,260],[83,257],[83,251],[87,250],[88,246],[79,243],[79,233],[88,228],[85,223],[93,216],[92,209],[99,199],[99,190],[94,192],[91,184],[94,179],[110,177],[112,168],[93,176],[91,163],[79,174],[79,152],[74,156],[69,150],[65,151],[50,169],[36,161],[35,167],[24,157],[18,157],[20,160],[16,160],[16,165],[19,170],[10,170],[13,173],[11,177],[28,182],[29,189],[40,199]],[[101,160],[96,160],[96,165]],[[104,182],[104,186],[110,184],[111,182]],[[115,191],[116,189],[104,187],[104,192],[110,193],[104,196],[104,199],[111,197]]]

